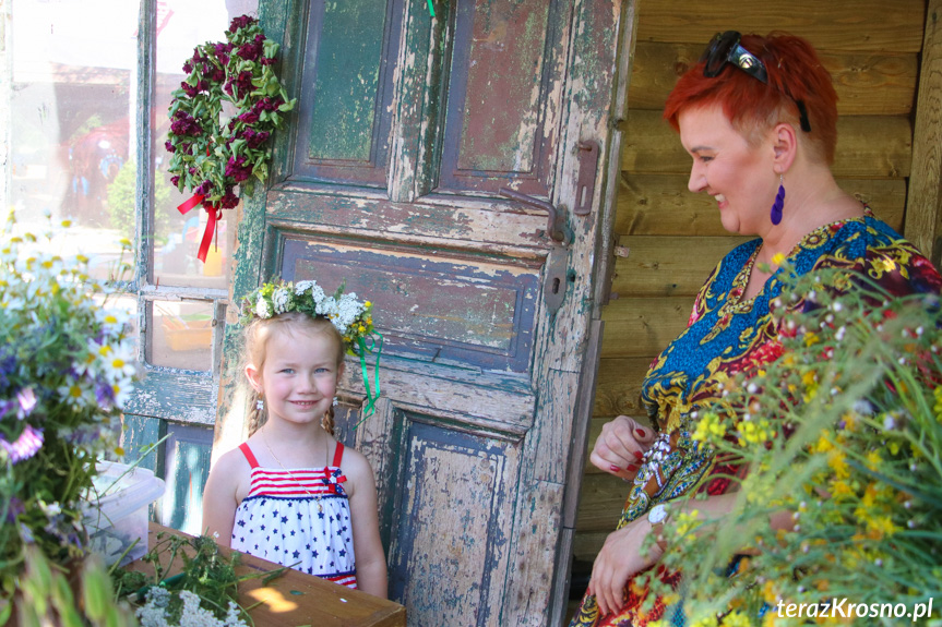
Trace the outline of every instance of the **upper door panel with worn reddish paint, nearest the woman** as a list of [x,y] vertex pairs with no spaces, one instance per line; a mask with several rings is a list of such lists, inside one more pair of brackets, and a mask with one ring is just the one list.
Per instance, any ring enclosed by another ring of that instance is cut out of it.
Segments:
[[548,195],[569,8],[458,2],[440,190]]

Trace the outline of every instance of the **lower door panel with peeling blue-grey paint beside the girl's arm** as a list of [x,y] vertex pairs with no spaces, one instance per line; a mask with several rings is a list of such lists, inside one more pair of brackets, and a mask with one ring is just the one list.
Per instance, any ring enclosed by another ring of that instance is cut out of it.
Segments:
[[[496,625],[512,529],[518,447],[404,414],[400,524],[390,594],[410,625]],[[510,494],[509,494],[510,492]]]

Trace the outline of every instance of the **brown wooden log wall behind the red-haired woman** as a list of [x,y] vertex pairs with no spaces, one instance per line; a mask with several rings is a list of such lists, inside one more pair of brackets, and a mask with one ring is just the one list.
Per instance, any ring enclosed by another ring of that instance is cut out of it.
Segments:
[[[639,393],[648,363],[685,325],[713,266],[743,241],[724,231],[712,197],[687,190],[690,157],[660,117],[677,77],[715,33],[787,31],[818,48],[839,97],[835,177],[901,232],[909,174],[917,169],[913,129],[926,0],[637,0],[637,14],[623,122],[616,274],[604,311],[589,447],[612,417],[641,415]],[[586,465],[576,560],[595,559],[627,492],[620,479]]]

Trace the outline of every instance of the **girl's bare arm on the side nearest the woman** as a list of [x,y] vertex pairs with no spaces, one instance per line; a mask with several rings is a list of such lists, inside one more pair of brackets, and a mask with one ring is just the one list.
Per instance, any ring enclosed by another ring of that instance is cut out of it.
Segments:
[[386,556],[380,541],[379,506],[373,469],[361,453],[351,448],[345,450],[343,465],[350,501],[357,588],[374,596],[386,599],[389,596]]

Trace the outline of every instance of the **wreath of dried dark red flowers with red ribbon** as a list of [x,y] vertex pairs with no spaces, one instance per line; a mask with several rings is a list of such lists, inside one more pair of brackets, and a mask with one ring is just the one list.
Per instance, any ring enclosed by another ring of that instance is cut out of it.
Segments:
[[[255,179],[267,178],[272,132],[297,103],[273,69],[278,44],[265,38],[258,20],[234,19],[226,39],[193,49],[168,112],[170,182],[193,192],[177,208],[186,214],[202,205],[210,216],[196,254],[202,262],[223,209],[239,204],[236,188],[251,194]],[[231,118],[224,117],[224,103],[237,109]]]

